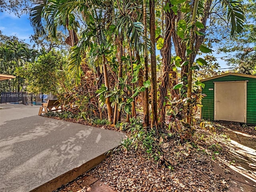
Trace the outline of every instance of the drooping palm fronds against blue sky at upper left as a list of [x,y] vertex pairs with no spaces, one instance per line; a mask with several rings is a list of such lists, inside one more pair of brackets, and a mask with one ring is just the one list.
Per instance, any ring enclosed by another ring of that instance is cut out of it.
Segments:
[[[76,6],[86,6],[85,2],[69,0],[36,0],[36,6],[30,10],[30,21],[38,36],[47,36],[46,31],[52,38],[57,40],[57,30],[64,27],[68,30],[69,36],[66,43],[74,46],[78,42],[77,31],[79,23],[74,20]],[[48,30],[45,30],[47,28]]]

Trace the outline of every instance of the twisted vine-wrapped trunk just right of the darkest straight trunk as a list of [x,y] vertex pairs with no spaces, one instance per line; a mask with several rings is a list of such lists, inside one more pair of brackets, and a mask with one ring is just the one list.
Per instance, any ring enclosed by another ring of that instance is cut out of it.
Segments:
[[[167,3],[167,2],[166,2]],[[167,103],[167,95],[168,95],[168,88],[169,88],[169,74],[172,73],[172,79],[176,78],[176,73],[172,70],[171,64],[171,48],[172,48],[172,19],[174,19],[173,11],[165,12],[166,18],[166,33],[164,37],[164,47],[162,48],[162,83],[160,87],[160,100],[159,100],[159,109],[160,109],[160,123],[161,127],[164,127],[165,122],[165,114],[166,114],[166,107],[165,104]],[[173,84],[170,85],[171,87]]]

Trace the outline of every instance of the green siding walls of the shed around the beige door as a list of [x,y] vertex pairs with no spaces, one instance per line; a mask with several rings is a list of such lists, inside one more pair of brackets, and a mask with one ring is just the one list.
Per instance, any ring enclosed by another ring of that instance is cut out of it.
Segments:
[[[202,99],[202,119],[214,120],[214,83],[218,81],[244,81],[247,82],[247,118],[248,124],[256,124],[256,78],[228,75],[220,78],[204,81],[205,84],[202,93],[207,96]],[[213,89],[213,90],[209,90]]]

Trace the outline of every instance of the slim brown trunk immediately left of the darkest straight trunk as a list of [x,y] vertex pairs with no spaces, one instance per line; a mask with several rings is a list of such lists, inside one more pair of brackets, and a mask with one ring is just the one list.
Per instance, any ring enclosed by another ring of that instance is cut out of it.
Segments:
[[[144,36],[147,37],[147,3],[146,0],[143,0],[143,23],[144,23]],[[144,78],[145,81],[148,80],[148,46],[147,42],[144,42]],[[148,109],[148,88],[145,89],[144,94],[144,127],[149,127],[149,109]]]

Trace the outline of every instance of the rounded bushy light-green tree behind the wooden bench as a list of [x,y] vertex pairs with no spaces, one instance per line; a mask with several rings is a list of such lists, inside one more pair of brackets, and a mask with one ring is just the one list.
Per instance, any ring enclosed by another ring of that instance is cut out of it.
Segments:
[[26,91],[29,93],[56,94],[70,86],[66,78],[66,65],[67,58],[63,53],[51,50],[40,55],[34,62],[16,67],[15,74],[26,79]]

